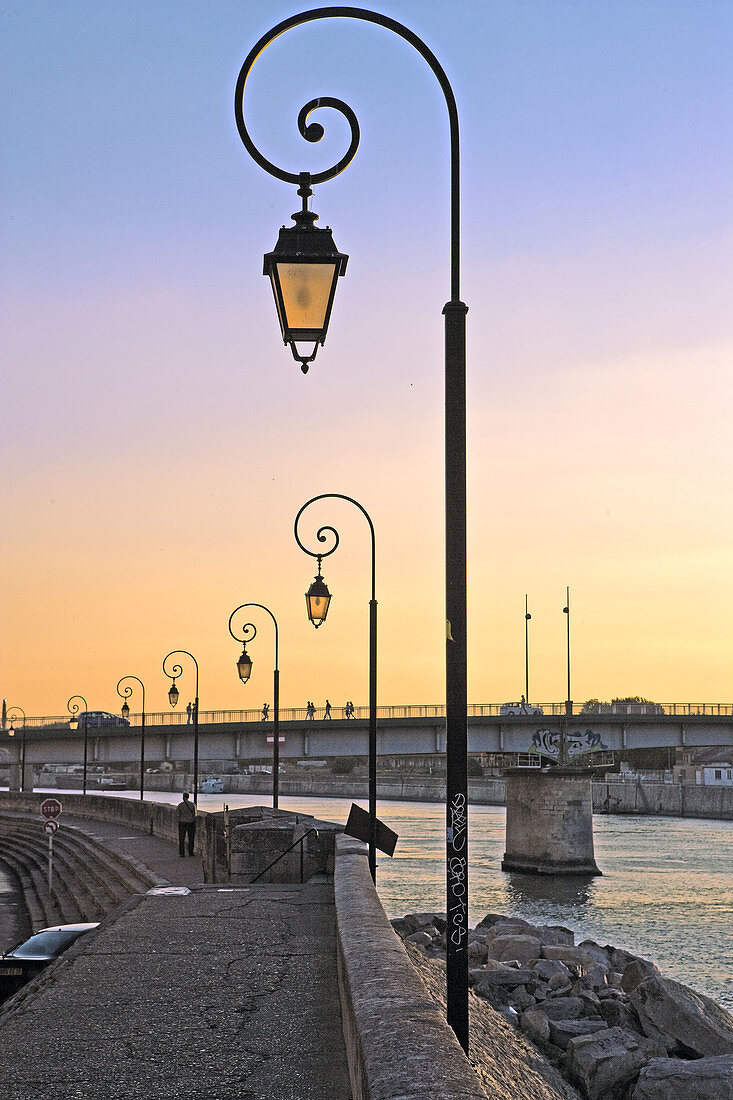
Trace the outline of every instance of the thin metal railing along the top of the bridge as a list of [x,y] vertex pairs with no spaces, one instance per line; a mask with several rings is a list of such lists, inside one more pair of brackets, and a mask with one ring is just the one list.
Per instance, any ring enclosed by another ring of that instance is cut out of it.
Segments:
[[[502,717],[502,711],[505,710],[506,705],[507,704],[505,703],[470,703],[468,714],[471,718],[497,718]],[[549,716],[557,717],[558,715],[564,715],[566,713],[565,703],[533,704],[530,710],[534,710],[535,706],[537,706],[541,712],[540,715],[532,715],[537,718]],[[514,707],[518,708],[519,704],[514,704]],[[572,713],[575,717],[588,717],[589,719],[595,715],[617,715],[620,717],[668,715],[672,717],[691,716],[696,718],[718,718],[733,716],[733,703],[614,703],[598,704],[595,706],[576,703],[573,705]],[[441,703],[412,703],[402,706],[378,706],[376,708],[378,718],[386,722],[395,718],[442,718],[445,717],[445,714],[446,707]],[[512,721],[512,715],[505,714],[504,716],[507,722]],[[349,715],[347,714],[344,706],[331,706],[331,717],[342,719],[349,718]],[[368,718],[369,707],[353,707],[351,717],[363,719]],[[316,707],[313,719],[309,719],[305,706],[285,707],[281,708],[280,718],[281,722],[322,722],[326,719],[326,711],[322,706]],[[140,719],[140,714],[131,714],[130,725],[139,726]],[[192,721],[192,717],[186,714],[185,711],[149,712],[145,715],[145,723],[149,726],[186,726],[190,725]],[[272,708],[270,710],[269,717],[266,719],[262,717],[261,710],[222,710],[199,711],[198,721],[201,725],[210,725],[214,723],[237,723],[240,725],[263,723],[271,726]],[[99,722],[90,721],[89,730],[92,732],[99,728],[109,728],[112,724],[113,723],[111,721],[109,723],[102,722],[101,724]],[[6,729],[8,729],[9,725],[10,723],[7,722]],[[25,721],[25,727],[68,728],[68,717],[66,715],[30,717]]]

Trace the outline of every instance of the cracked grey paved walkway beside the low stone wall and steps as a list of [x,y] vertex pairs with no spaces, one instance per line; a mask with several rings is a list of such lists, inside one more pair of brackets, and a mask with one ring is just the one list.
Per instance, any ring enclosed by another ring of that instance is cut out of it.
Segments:
[[330,880],[206,887],[174,845],[65,821],[173,889],[131,899],[0,1007],[0,1094],[350,1100]]

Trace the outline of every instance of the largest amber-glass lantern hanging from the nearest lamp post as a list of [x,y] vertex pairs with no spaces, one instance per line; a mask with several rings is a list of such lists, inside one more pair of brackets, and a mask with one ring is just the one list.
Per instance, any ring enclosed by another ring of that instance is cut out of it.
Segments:
[[[318,345],[326,342],[336,284],[346,273],[349,257],[339,252],[330,229],[316,229],[318,215],[308,210],[309,176],[302,177],[298,195],[303,209],[293,215],[295,226],[283,228],[273,252],[264,257],[263,274],[269,275],[277,307],[283,342],[291,345],[293,358],[304,374],[316,358]],[[300,350],[298,343],[311,343]]]

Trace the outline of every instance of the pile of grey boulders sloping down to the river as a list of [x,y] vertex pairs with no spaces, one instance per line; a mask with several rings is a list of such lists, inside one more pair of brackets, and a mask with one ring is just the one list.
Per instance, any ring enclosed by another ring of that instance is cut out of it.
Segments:
[[[445,916],[392,926],[445,959]],[[733,1015],[648,959],[496,913],[469,930],[468,953],[473,992],[588,1100],[733,1100]]]

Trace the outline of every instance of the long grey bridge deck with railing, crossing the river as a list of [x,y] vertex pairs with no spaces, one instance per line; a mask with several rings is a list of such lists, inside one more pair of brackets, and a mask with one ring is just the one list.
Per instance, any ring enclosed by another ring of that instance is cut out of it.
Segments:
[[[573,710],[565,704],[547,704],[543,714],[502,715],[499,704],[469,707],[469,752],[536,752],[558,756],[564,744],[569,757],[633,748],[677,748],[702,746],[733,747],[733,704],[675,703],[619,704],[595,711]],[[283,762],[322,757],[368,755],[368,708],[355,708],[346,718],[333,708],[331,719],[317,711],[306,718],[305,708],[281,712],[280,737]],[[151,767],[162,761],[190,760],[194,726],[186,714],[163,713],[145,716],[145,760]],[[272,758],[272,722],[261,721],[259,711],[210,711],[199,714],[199,761],[266,763]],[[22,729],[0,744],[20,763],[24,747],[26,768],[44,765],[79,765],[84,759],[84,729],[72,732],[62,717],[29,718]],[[380,757],[439,756],[446,751],[445,711],[441,706],[412,705],[379,707],[378,754]],[[89,767],[130,763],[140,760],[140,716],[130,725],[89,725]]]

